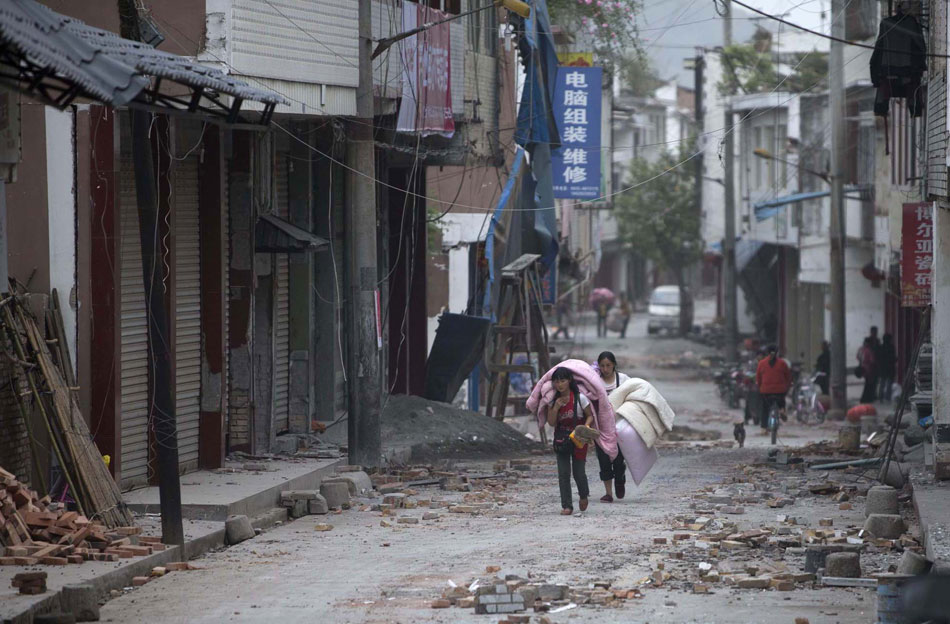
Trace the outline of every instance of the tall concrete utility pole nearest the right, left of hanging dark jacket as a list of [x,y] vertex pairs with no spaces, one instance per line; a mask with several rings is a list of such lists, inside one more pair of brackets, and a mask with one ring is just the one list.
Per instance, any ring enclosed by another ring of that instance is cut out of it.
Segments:
[[[831,36],[844,39],[844,5],[831,0]],[[848,407],[848,370],[845,350],[844,279],[844,50],[840,41],[831,41],[828,94],[831,105],[831,410],[829,416],[841,418]]]

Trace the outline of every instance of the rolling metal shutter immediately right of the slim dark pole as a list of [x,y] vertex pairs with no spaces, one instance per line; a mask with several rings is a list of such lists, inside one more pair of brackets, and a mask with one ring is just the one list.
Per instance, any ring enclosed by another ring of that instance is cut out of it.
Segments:
[[198,158],[175,164],[175,418],[179,469],[198,467],[201,412],[201,264]]

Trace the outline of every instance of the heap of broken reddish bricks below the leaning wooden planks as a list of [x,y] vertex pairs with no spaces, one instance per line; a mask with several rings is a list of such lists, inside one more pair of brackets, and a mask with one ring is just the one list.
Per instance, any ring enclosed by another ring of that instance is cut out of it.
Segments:
[[0,468],[0,565],[66,565],[118,561],[165,550],[142,529],[110,529],[36,492]]

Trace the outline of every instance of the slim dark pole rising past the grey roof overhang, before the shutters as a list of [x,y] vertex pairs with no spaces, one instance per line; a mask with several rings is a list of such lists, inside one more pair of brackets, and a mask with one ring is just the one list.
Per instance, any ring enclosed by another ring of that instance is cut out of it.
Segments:
[[[138,11],[133,0],[118,0],[122,36],[141,41]],[[181,521],[181,482],[178,478],[178,433],[175,402],[172,401],[172,359],[169,351],[171,330],[166,307],[162,263],[158,261],[155,232],[164,219],[158,214],[155,163],[149,126],[152,113],[134,109],[132,118],[132,163],[135,172],[135,197],[139,212],[139,238],[142,243],[142,274],[145,280],[146,319],[148,322],[148,376],[151,380],[149,420],[155,431],[156,470],[159,506],[162,513],[162,541],[185,543]]]

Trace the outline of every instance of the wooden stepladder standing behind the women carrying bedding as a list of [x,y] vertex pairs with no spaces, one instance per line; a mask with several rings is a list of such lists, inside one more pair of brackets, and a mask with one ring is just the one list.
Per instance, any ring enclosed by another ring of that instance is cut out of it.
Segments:
[[[501,270],[498,320],[489,330],[486,341],[485,361],[489,374],[486,414],[489,418],[502,420],[510,403],[524,402],[528,398],[509,398],[512,373],[529,374],[534,386],[538,371],[544,373],[551,366],[548,328],[541,307],[540,259],[538,254],[524,254]],[[527,358],[524,364],[514,363],[515,355],[520,353]],[[546,442],[546,437],[541,429],[541,441]]]

